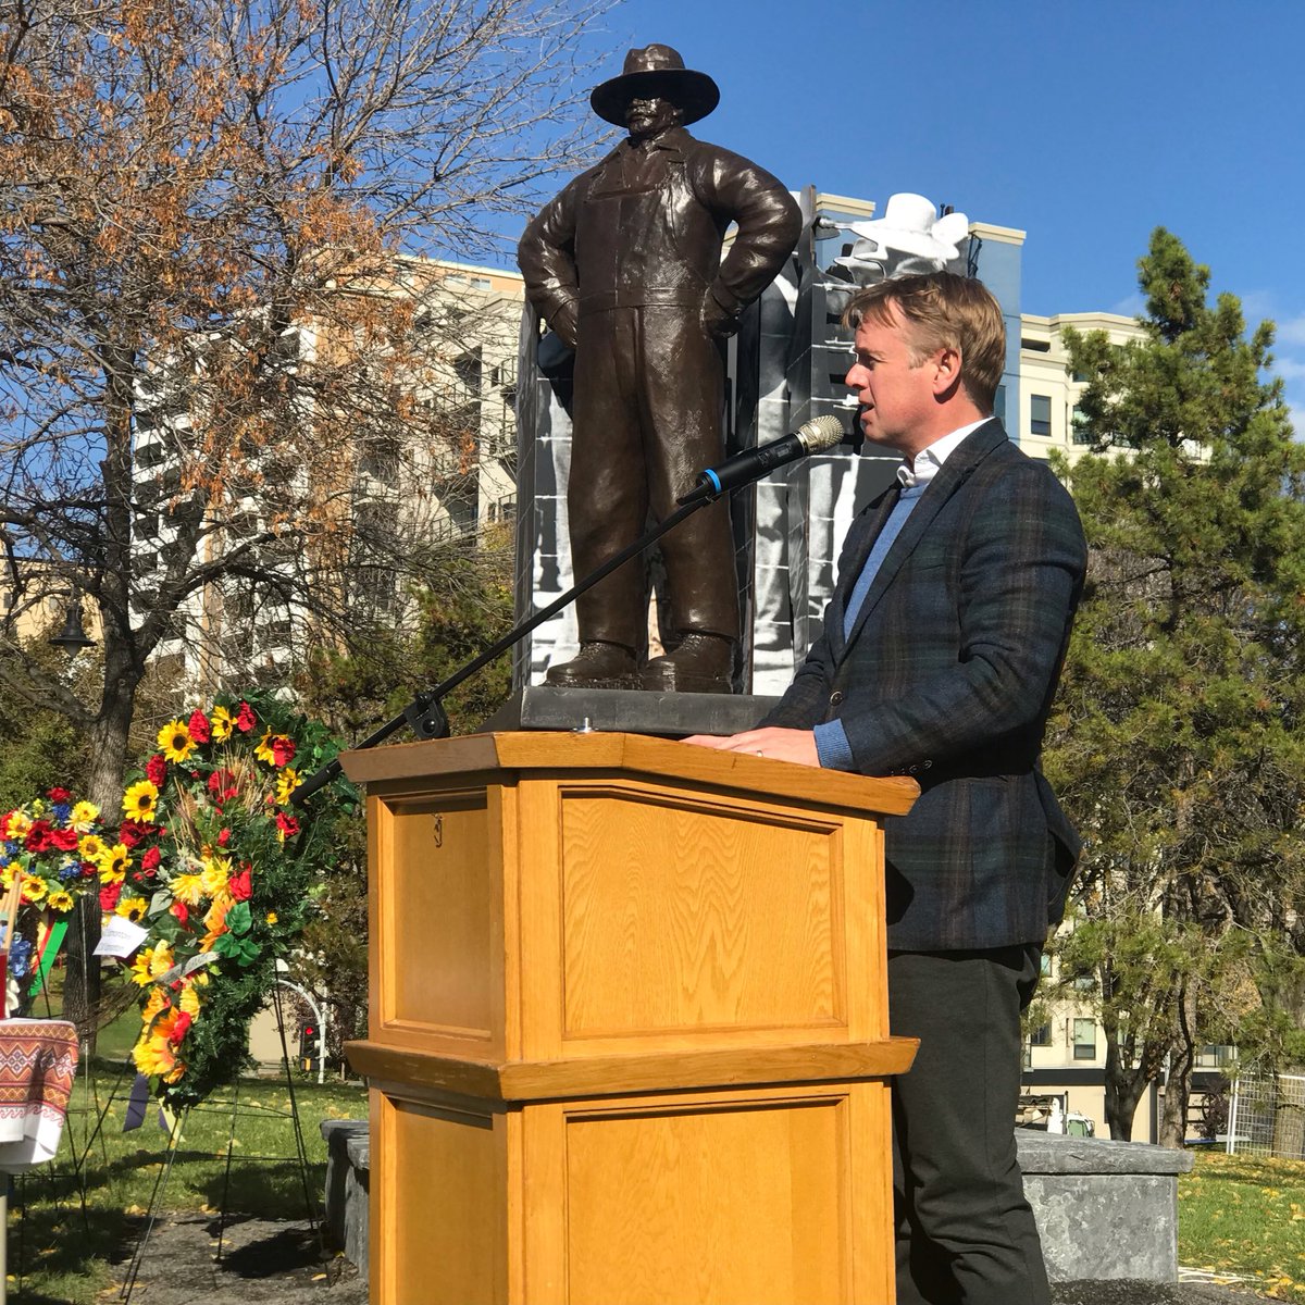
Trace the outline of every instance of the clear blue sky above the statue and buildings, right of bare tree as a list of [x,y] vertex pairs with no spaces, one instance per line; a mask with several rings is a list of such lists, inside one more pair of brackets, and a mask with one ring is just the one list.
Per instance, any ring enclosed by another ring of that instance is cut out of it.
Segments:
[[915,191],[1028,232],[1026,312],[1134,313],[1172,230],[1278,324],[1305,437],[1305,4],[624,0],[590,39],[659,40],[720,85],[694,132],[791,188]]

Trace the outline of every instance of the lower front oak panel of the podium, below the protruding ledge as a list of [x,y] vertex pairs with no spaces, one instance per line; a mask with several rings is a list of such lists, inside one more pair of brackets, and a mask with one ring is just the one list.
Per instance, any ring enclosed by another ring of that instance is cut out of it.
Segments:
[[883,1083],[569,1101],[529,1120],[531,1305],[893,1300]]

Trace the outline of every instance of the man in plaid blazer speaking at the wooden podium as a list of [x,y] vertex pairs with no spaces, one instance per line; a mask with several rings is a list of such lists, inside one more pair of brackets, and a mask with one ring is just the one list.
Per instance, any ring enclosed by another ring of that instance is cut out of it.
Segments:
[[1019,1014],[1079,844],[1037,769],[1083,582],[1069,495],[992,416],[1006,342],[976,281],[859,291],[847,385],[906,459],[853,522],[823,633],[761,727],[689,743],[911,775],[885,818],[898,1301],[1047,1305],[1015,1159]]

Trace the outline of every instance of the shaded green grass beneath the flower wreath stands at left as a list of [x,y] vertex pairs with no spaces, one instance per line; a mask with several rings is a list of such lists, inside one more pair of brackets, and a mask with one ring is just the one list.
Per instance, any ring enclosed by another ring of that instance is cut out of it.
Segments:
[[[134,1010],[129,1014],[138,1028]],[[97,1065],[99,1104],[78,1078],[55,1164],[16,1180],[9,1220],[9,1291],[16,1302],[91,1305],[97,1292],[120,1280],[162,1171],[167,1134],[158,1126],[157,1107],[151,1103],[144,1128],[123,1133],[132,1074],[120,1077],[120,1060],[99,1060]],[[91,1139],[99,1109],[108,1103],[115,1087],[117,1095],[107,1107],[103,1129]],[[308,1190],[315,1202],[313,1212],[320,1216],[326,1146],[318,1124],[329,1118],[365,1118],[367,1092],[341,1083],[318,1087],[296,1082],[295,1096],[311,1167]],[[240,1084],[239,1099],[228,1088],[191,1111],[161,1207],[217,1214],[232,1117],[235,1142],[227,1212],[305,1218],[304,1185],[294,1159],[294,1128],[284,1079],[248,1079]],[[85,1152],[85,1219],[69,1143],[78,1155]],[[20,1205],[26,1206],[22,1219]],[[20,1258],[21,1293],[17,1283]],[[119,1262],[116,1270],[111,1261]]]

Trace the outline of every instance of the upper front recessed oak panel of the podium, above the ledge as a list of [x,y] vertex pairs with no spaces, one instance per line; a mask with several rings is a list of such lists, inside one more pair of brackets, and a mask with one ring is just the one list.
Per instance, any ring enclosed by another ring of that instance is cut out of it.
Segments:
[[840,826],[568,787],[561,835],[564,1037],[846,1026]]

